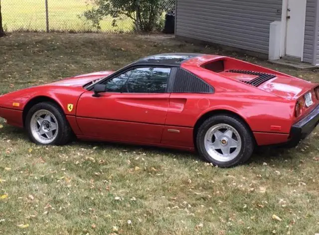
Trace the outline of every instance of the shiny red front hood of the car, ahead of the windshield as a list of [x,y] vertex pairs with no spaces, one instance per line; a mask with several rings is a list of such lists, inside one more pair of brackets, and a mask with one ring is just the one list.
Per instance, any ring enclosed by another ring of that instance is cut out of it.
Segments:
[[90,82],[95,82],[101,78],[105,78],[113,73],[114,73],[113,71],[103,71],[103,72],[96,72],[91,74],[78,75],[75,77],[65,78],[60,81],[52,82],[47,85],[81,87]]

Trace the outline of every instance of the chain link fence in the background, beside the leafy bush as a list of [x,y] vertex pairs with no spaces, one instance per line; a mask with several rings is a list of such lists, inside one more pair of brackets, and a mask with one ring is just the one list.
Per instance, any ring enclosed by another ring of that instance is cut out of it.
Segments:
[[[105,16],[100,27],[84,17],[96,0],[1,0],[4,30],[12,31],[62,31],[62,32],[133,32],[134,20],[123,14],[116,24],[112,16]],[[101,1],[101,0],[100,0]],[[108,2],[108,0],[104,0]],[[128,1],[128,0],[118,0]],[[174,11],[175,0],[161,0],[162,21],[168,11]],[[125,13],[125,12],[124,12]],[[160,30],[157,28],[157,30]]]

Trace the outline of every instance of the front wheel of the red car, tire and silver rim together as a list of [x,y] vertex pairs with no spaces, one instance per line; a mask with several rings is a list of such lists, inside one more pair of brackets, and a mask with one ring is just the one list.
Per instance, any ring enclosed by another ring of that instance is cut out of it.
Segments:
[[25,126],[32,142],[39,145],[64,145],[71,128],[60,107],[51,102],[35,104],[26,115]]

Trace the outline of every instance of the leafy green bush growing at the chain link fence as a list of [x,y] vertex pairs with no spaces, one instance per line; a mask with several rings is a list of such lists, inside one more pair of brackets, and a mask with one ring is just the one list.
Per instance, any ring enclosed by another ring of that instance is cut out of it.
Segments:
[[86,19],[100,29],[105,16],[113,18],[113,26],[123,16],[132,19],[136,31],[150,32],[159,24],[168,0],[93,0],[94,7],[84,12]]

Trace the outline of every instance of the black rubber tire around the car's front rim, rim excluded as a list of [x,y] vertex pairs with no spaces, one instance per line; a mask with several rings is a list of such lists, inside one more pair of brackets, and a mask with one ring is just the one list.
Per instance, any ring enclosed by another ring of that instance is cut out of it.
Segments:
[[[36,138],[32,134],[31,118],[32,118],[33,114],[35,112],[37,112],[38,110],[47,110],[47,111],[51,112],[57,120],[57,123],[58,123],[57,132],[58,133],[57,133],[55,139],[51,143],[43,144],[43,143],[37,141]],[[38,145],[65,145],[66,143],[68,143],[70,141],[71,136],[72,136],[72,130],[71,130],[71,127],[70,127],[68,121],[66,120],[65,114],[63,113],[63,111],[61,110],[61,108],[57,104],[52,103],[52,102],[41,102],[41,103],[37,103],[34,106],[32,106],[26,115],[25,127],[27,130],[29,139],[33,143],[36,143]]]

